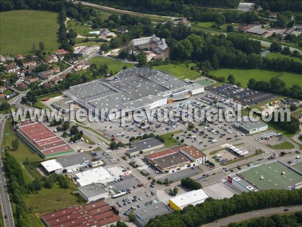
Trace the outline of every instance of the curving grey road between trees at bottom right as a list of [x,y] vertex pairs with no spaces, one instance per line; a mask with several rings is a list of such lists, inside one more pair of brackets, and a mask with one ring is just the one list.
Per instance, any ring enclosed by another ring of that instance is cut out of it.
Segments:
[[251,219],[251,218],[255,218],[255,217],[261,217],[261,216],[270,215],[270,214],[275,214],[275,213],[288,212],[288,211],[284,211],[284,208],[288,208],[289,211],[291,211],[291,212],[297,212],[297,211],[302,210],[302,206],[274,207],[274,208],[269,208],[269,209],[264,209],[264,210],[254,210],[251,212],[222,218],[222,219],[218,220],[217,222],[212,222],[212,223],[205,224],[202,226],[225,226],[231,222],[243,221],[243,220],[247,220],[247,219]]

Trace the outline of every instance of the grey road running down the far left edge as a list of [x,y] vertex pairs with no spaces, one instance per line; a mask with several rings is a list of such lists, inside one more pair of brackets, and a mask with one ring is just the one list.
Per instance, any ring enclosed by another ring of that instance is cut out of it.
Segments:
[[[7,120],[7,117],[2,117],[1,119],[1,124],[0,124],[0,149],[2,147],[2,138],[3,138],[3,132],[4,132],[4,125],[5,121],[2,121],[5,119]],[[7,227],[12,227],[15,226],[14,223],[14,217],[13,217],[13,211],[10,203],[10,196],[9,193],[7,192],[7,185],[6,185],[6,179],[4,176],[4,171],[3,171],[3,161],[2,161],[2,151],[0,151],[0,198],[1,198],[1,210],[2,210],[2,215],[5,217],[7,215],[7,218],[4,218],[4,225]]]

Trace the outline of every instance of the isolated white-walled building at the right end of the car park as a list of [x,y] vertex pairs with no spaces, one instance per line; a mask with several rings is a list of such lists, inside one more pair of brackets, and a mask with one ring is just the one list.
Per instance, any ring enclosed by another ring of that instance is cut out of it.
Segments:
[[241,121],[236,121],[235,127],[250,135],[263,132],[268,129],[268,125],[264,122],[252,122],[248,117],[243,117]]

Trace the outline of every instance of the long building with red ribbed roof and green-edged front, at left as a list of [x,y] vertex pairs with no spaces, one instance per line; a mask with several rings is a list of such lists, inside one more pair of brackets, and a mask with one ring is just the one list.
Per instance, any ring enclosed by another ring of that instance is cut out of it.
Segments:
[[18,123],[14,131],[41,158],[58,157],[74,152],[63,140],[34,119]]

